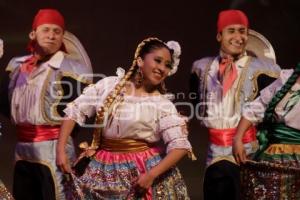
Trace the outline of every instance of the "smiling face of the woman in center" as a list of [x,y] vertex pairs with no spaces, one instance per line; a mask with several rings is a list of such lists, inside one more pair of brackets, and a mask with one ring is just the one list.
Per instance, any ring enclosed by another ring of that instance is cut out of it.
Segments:
[[163,47],[146,54],[144,59],[137,60],[143,73],[144,84],[159,85],[169,74],[172,68],[170,51]]

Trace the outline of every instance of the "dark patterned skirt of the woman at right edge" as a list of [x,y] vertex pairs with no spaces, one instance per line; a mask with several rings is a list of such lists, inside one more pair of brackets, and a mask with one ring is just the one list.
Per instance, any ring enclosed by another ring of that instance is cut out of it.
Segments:
[[272,144],[241,166],[242,199],[300,199],[300,145]]

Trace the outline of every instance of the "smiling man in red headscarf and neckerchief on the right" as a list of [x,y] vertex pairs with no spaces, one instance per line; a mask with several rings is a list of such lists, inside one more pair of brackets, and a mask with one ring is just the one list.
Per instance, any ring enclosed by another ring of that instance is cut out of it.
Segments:
[[[194,62],[191,91],[198,94],[197,112],[209,130],[209,149],[204,178],[204,199],[239,199],[239,167],[232,155],[232,139],[241,117],[242,105],[275,80],[279,66],[246,52],[249,23],[239,10],[220,12],[217,41],[220,53]],[[257,84],[264,77],[264,86]],[[200,105],[200,106],[199,106]],[[256,129],[244,138],[247,154],[257,148]]]

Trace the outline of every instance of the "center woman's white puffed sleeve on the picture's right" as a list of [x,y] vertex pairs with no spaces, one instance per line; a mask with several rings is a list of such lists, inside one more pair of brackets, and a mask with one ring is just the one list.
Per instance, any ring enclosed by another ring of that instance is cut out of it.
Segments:
[[159,133],[167,145],[167,153],[172,149],[187,149],[192,153],[192,147],[188,141],[187,119],[177,112],[170,102],[168,110],[164,109],[159,118]]

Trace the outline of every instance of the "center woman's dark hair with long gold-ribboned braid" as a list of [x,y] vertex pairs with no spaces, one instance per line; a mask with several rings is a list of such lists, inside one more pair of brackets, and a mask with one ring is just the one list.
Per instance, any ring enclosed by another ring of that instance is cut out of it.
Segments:
[[[132,80],[138,70],[137,66],[137,58],[141,57],[144,59],[145,55],[160,48],[167,48],[171,55],[172,55],[172,50],[169,49],[169,47],[161,40],[158,38],[147,38],[143,40],[141,43],[136,48],[135,54],[134,54],[134,59],[132,62],[131,67],[129,68],[128,72],[125,74],[125,76],[117,83],[115,88],[108,94],[106,99],[103,102],[103,106],[99,108],[96,114],[96,120],[95,124],[97,124],[97,128],[94,129],[93,132],[93,140],[91,147],[92,148],[98,148],[100,145],[100,140],[101,140],[101,132],[102,132],[102,127],[103,123],[105,120],[105,116],[110,112],[110,110],[113,108],[113,105],[115,105],[117,102],[122,101],[123,96],[121,95],[121,91],[124,88],[125,84],[127,81]],[[172,56],[171,56],[172,57]],[[173,60],[172,60],[173,62]],[[165,92],[164,86],[160,86],[158,90],[161,93]]]

